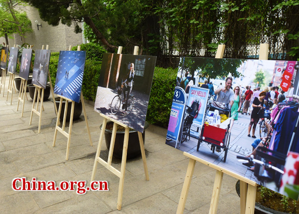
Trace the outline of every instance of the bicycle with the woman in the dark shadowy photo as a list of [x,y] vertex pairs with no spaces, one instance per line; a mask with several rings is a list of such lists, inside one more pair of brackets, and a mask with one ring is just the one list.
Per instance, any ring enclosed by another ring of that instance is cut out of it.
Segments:
[[[128,86],[126,83],[123,84],[123,82],[122,82],[122,85],[124,85],[124,87]],[[134,101],[135,101],[134,95],[130,95],[128,98],[127,114],[129,114],[132,111],[132,109],[134,107]],[[110,104],[111,113],[116,114],[120,110],[121,105],[122,105],[123,109],[126,108],[126,101],[125,101],[125,97],[123,95],[123,88],[118,89],[118,95],[116,95],[113,98],[113,100]]]

